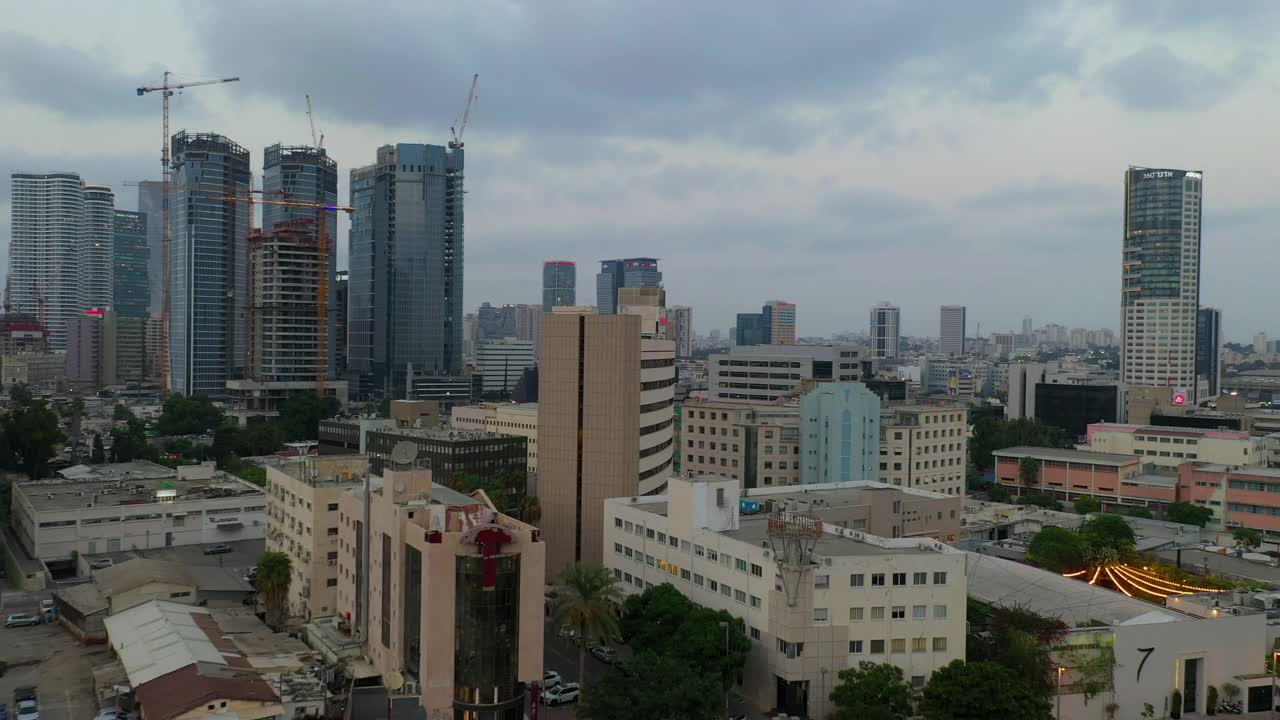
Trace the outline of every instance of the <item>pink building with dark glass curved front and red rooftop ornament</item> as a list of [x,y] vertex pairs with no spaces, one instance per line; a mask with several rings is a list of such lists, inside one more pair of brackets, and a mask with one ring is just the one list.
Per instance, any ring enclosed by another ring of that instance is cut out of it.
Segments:
[[524,717],[543,679],[538,529],[416,468],[370,478],[335,515],[337,615],[375,674],[398,674],[419,717]]

